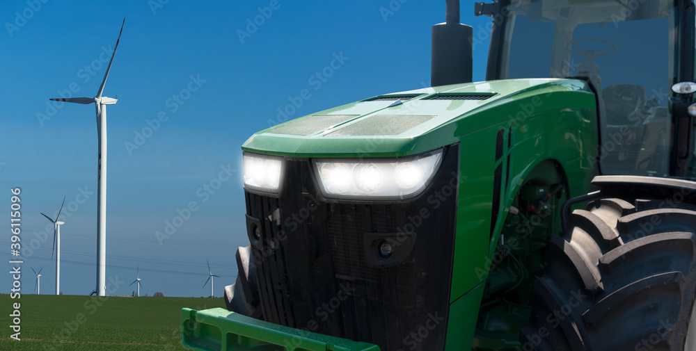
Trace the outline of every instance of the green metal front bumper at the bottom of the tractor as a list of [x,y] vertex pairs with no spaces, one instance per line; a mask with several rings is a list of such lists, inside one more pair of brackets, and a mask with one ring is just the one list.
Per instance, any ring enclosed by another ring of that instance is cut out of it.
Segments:
[[182,309],[181,342],[201,351],[379,351],[377,345],[283,327],[226,309]]

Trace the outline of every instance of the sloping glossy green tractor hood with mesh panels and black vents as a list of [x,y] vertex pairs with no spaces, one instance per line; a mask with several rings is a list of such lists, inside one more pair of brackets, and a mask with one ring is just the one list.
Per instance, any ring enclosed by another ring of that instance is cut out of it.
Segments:
[[[580,99],[548,99],[558,94],[579,94]],[[563,106],[559,100],[576,106]],[[300,117],[254,134],[242,149],[294,157],[407,156],[521,117],[572,107],[596,108],[585,81],[511,79],[444,85],[381,95]]]

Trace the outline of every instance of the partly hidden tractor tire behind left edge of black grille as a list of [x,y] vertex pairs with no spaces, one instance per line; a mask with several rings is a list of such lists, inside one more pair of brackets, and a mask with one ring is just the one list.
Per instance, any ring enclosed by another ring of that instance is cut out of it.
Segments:
[[263,319],[258,285],[251,256],[251,246],[237,248],[237,280],[225,287],[225,304],[228,311],[251,318]]

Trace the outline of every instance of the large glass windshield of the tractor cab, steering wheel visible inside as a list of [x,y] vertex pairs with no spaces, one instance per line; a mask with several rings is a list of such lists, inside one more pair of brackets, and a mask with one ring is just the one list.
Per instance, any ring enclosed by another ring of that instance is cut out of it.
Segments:
[[667,176],[675,6],[674,0],[511,1],[499,76],[590,81],[598,95],[601,172]]

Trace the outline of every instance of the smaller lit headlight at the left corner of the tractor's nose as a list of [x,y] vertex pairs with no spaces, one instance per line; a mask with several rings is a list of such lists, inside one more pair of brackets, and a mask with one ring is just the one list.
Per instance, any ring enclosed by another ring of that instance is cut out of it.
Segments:
[[282,175],[282,158],[244,154],[244,186],[246,188],[278,193]]

